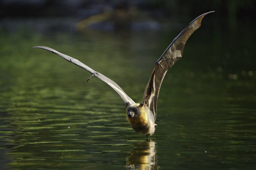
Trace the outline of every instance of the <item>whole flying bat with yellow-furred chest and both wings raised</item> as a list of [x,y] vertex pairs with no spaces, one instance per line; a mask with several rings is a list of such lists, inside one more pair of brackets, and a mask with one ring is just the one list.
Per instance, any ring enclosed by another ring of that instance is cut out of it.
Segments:
[[[156,61],[156,66],[150,76],[144,92],[142,103],[140,104],[136,104],[114,81],[110,80],[103,74],[94,71],[92,68],[81,63],[77,59],[59,53],[58,51],[49,47],[38,46],[34,48],[46,49],[52,53],[55,53],[56,55],[66,59],[67,61],[76,64],[77,66],[80,66],[84,70],[90,72],[92,76],[96,76],[100,80],[106,82],[118,93],[118,95],[124,101],[124,104],[126,106],[126,117],[129,123],[132,125],[134,131],[148,137],[148,135],[152,135],[154,133],[157,126],[155,124],[156,103],[164,76],[166,72],[173,66],[173,64],[182,57],[186,41],[188,40],[190,35],[192,35],[192,33],[201,26],[202,18],[209,13],[211,12],[202,14],[194,19],[191,23],[189,23],[180,32],[180,34],[176,38],[174,38],[172,43],[166,48],[161,57]],[[92,76],[90,76],[88,80],[90,80]]]

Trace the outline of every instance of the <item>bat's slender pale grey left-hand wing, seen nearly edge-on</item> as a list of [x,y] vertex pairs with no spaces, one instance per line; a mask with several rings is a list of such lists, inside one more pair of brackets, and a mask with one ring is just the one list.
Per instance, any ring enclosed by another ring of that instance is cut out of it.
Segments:
[[125,94],[125,92],[122,90],[122,88],[120,88],[114,81],[110,80],[109,78],[107,78],[103,74],[100,74],[99,72],[94,71],[92,68],[90,68],[90,67],[86,66],[85,64],[81,63],[77,59],[74,59],[74,58],[72,58],[68,55],[64,55],[62,53],[59,53],[58,51],[56,51],[54,49],[51,49],[49,47],[37,46],[37,47],[33,47],[33,48],[40,48],[40,49],[48,50],[48,51],[62,57],[63,59],[66,59],[67,61],[69,61],[73,64],[76,64],[77,66],[80,66],[84,70],[92,73],[92,76],[98,77],[100,80],[104,81],[106,84],[111,86],[117,92],[117,94],[122,98],[122,100],[124,100],[124,103],[125,103],[126,107],[130,104],[135,104],[135,102],[129,96],[127,96],[127,94]]

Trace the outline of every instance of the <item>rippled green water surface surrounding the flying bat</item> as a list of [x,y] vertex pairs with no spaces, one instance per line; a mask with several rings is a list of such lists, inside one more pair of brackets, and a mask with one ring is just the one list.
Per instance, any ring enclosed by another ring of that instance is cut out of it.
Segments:
[[182,27],[83,33],[1,29],[1,168],[253,169],[255,25],[244,21],[230,30],[208,22],[190,37],[184,57],[163,81],[158,127],[149,139],[132,130],[112,88],[95,77],[86,83],[88,72],[32,49],[45,45],[70,55],[141,102],[156,59]]

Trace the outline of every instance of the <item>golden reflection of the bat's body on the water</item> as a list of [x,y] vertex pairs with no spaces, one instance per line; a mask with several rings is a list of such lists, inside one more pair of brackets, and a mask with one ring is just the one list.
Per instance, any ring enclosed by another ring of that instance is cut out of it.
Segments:
[[157,170],[156,146],[154,141],[144,141],[134,145],[126,157],[126,167],[130,170]]

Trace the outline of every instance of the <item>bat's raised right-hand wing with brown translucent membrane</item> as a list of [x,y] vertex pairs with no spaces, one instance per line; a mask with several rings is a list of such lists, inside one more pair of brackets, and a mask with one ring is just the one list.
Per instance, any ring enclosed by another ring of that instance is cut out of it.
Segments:
[[192,35],[192,33],[201,26],[202,18],[209,13],[211,12],[198,16],[188,24],[188,26],[186,26],[180,34],[174,38],[162,56],[156,61],[156,66],[148,81],[142,100],[142,104],[146,105],[154,114],[154,120],[156,120],[156,102],[166,72],[182,57],[186,41],[190,35]]

